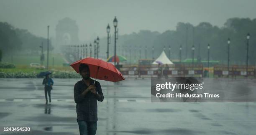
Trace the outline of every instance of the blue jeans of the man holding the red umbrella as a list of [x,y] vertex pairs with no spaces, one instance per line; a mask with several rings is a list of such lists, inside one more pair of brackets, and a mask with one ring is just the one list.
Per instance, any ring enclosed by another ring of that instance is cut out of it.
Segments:
[[97,130],[97,121],[87,122],[84,120],[77,120],[80,135],[95,135]]

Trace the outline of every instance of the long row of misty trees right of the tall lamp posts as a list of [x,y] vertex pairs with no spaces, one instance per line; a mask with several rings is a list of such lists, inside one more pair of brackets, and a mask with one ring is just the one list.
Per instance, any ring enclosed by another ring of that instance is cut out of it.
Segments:
[[[194,27],[194,36],[193,36]],[[187,32],[187,30],[188,32]],[[113,33],[113,29],[111,30]],[[214,26],[208,22],[202,22],[193,26],[190,23],[178,23],[175,31],[167,30],[163,33],[149,30],[139,31],[121,35],[117,41],[117,52],[125,55],[129,59],[129,49],[131,48],[132,61],[141,46],[141,58],[145,58],[145,46],[147,46],[147,58],[152,58],[152,46],[154,46],[154,58],[157,58],[165,46],[165,53],[169,56],[169,46],[171,46],[171,60],[179,59],[179,46],[182,45],[182,59],[185,59],[186,37],[187,37],[187,59],[192,59],[192,45],[194,37],[195,59],[207,60],[207,45],[210,44],[210,60],[219,60],[220,64],[227,63],[227,40],[230,38],[230,64],[245,64],[246,61],[246,35],[251,34],[249,40],[249,64],[255,64],[256,54],[256,19],[250,18],[230,18],[223,27]],[[187,35],[187,36],[186,36]],[[101,48],[105,56],[106,38],[101,41]],[[135,48],[136,46],[136,48]],[[199,51],[200,46],[200,51]],[[110,55],[113,55],[114,40],[111,37]],[[124,48],[124,51],[121,50]],[[200,53],[199,53],[200,52]]]

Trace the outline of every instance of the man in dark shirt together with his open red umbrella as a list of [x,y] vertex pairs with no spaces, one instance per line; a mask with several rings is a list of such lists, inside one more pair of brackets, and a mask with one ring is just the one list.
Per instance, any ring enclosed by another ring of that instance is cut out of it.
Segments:
[[113,64],[91,57],[76,61],[70,66],[83,78],[74,85],[80,135],[95,135],[98,120],[97,100],[102,102],[104,99],[100,83],[96,79],[118,82],[124,80],[123,75]]

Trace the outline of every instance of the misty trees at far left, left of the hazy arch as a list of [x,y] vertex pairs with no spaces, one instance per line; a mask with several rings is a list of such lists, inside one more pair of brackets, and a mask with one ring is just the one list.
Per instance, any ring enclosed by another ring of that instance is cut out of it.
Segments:
[[[41,42],[44,43],[44,51],[47,47],[47,39],[35,36],[28,30],[15,28],[6,22],[0,22],[0,50],[3,55],[9,53],[38,53],[41,51]],[[50,50],[54,48],[50,44]]]

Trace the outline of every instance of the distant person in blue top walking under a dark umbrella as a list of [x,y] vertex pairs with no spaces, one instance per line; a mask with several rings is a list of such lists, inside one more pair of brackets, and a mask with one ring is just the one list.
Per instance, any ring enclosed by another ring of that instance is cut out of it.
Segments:
[[45,78],[43,80],[44,95],[45,95],[45,99],[46,99],[46,104],[48,104],[47,93],[49,95],[49,102],[51,102],[51,89],[52,89],[53,84],[54,84],[54,82],[49,77],[49,74],[46,74],[46,76],[45,76]]

